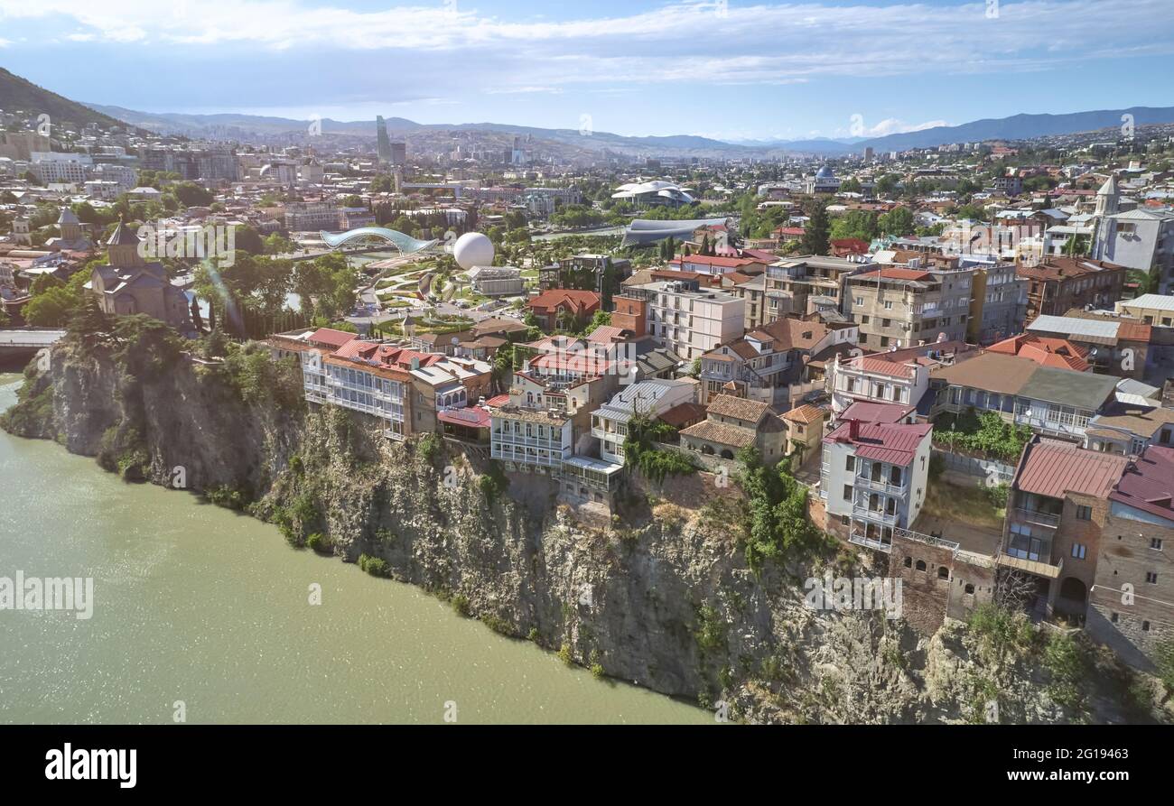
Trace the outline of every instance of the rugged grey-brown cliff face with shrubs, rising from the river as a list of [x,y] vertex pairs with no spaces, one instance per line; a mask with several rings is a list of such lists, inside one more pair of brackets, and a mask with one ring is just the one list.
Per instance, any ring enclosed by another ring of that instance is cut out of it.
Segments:
[[249,380],[239,366],[202,367],[167,351],[136,364],[63,343],[4,426],[160,485],[180,486],[180,468],[188,489],[248,503],[291,543],[379,558],[390,576],[494,630],[720,716],[1139,718],[1122,672],[1097,650],[1084,650],[1091,693],[1074,707],[1053,696],[1055,672],[1035,650],[992,649],[990,636],[959,624],[922,637],[883,614],[807,608],[803,580],[824,569],[751,573],[729,510],[653,500],[622,528],[591,526],[554,506],[540,480],[514,477],[502,492],[502,481],[486,481],[500,479],[492,468],[439,440],[392,443],[344,411],[308,412],[288,395],[279,404]]

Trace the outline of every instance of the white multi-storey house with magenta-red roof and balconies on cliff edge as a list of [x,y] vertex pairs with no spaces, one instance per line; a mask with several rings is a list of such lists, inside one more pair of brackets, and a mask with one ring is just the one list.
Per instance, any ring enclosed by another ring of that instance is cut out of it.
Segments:
[[927,489],[933,426],[842,419],[823,438],[819,497],[824,529],[857,546],[890,551],[917,520]]

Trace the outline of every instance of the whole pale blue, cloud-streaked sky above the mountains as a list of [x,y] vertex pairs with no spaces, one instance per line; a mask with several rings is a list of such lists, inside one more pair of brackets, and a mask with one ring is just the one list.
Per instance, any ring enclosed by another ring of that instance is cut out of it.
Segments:
[[0,0],[0,66],[141,111],[848,138],[1174,106],[1172,12],[1174,0]]

